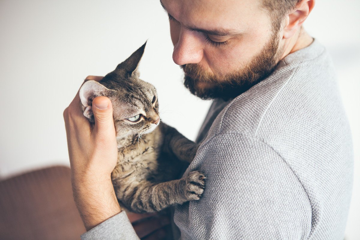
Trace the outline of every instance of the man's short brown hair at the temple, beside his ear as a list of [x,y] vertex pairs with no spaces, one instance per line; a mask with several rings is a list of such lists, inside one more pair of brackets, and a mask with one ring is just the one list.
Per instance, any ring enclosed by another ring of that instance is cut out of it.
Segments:
[[290,10],[300,3],[301,0],[263,0],[262,6],[269,12],[273,31],[278,32],[284,17]]

